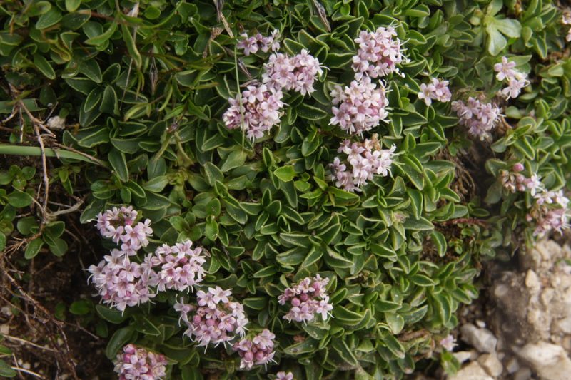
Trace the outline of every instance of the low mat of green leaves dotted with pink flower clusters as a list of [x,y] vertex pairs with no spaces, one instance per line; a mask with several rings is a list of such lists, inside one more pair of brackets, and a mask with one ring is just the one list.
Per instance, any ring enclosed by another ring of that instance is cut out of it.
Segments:
[[80,257],[126,378],[453,368],[480,262],[569,227],[555,1],[25,3],[0,153],[40,159],[0,172],[0,259]]

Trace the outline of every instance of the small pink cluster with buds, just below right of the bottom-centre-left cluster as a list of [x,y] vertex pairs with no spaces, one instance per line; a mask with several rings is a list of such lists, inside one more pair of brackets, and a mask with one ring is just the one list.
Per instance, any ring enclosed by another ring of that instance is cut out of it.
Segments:
[[240,368],[251,369],[253,366],[261,366],[271,363],[273,355],[273,339],[276,338],[270,330],[263,331],[253,338],[244,338],[233,344],[233,349],[238,351],[241,357]]

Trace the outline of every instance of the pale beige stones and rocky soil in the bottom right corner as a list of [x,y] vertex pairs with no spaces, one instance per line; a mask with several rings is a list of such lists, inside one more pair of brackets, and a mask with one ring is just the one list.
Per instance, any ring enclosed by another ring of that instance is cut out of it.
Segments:
[[485,271],[485,302],[461,312],[449,380],[571,379],[571,248],[554,240]]

